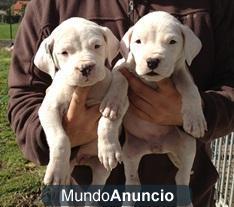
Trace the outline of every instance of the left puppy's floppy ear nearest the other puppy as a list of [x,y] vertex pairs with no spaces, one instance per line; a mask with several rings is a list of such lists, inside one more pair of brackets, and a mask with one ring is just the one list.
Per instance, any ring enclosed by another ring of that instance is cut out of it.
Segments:
[[106,54],[109,65],[111,65],[112,60],[119,53],[119,40],[115,37],[112,31],[107,27],[102,27],[104,39],[106,41]]

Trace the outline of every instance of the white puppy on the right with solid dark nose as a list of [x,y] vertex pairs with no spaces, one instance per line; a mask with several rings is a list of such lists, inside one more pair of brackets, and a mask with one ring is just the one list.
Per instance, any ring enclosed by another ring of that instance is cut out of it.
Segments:
[[201,49],[200,40],[172,15],[152,12],[127,31],[121,49],[125,60],[116,64],[116,70],[127,67],[155,89],[157,81],[171,78],[182,97],[183,127],[187,132],[149,123],[128,111],[123,147],[126,184],[140,184],[138,165],[143,155],[167,153],[178,168],[176,184],[189,185],[196,152],[193,137],[202,137],[206,130],[201,97],[187,68]]

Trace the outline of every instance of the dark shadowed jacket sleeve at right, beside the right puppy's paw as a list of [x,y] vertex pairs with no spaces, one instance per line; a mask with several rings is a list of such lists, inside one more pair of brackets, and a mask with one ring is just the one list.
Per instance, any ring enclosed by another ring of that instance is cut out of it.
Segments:
[[[234,2],[215,0],[212,24],[215,40],[214,80],[212,90],[223,85],[234,88]],[[234,102],[216,93],[203,93],[208,131],[201,141],[210,141],[234,131]]]

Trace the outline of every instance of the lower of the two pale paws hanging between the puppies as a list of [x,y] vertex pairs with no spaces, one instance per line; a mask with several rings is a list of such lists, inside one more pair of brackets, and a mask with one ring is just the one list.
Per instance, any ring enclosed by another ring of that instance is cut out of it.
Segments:
[[114,169],[122,161],[119,141],[98,139],[98,158],[108,171]]

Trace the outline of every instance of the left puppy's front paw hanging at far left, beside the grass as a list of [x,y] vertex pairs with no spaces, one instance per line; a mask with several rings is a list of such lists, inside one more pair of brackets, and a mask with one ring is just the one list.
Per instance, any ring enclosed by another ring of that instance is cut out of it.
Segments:
[[65,160],[50,160],[44,177],[45,185],[70,184],[70,164]]

